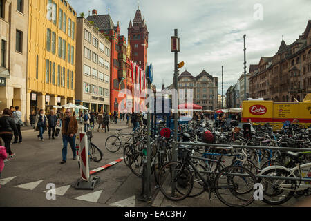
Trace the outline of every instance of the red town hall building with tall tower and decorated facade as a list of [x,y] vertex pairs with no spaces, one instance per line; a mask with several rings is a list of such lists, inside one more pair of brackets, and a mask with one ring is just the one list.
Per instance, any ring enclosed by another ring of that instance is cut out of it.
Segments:
[[[126,42],[126,38],[120,35],[119,22],[117,22],[117,26],[115,26],[109,14],[97,15],[97,10],[93,10],[92,15],[88,16],[87,20],[91,21],[102,34],[109,37],[109,41],[111,42],[110,111],[119,111],[119,104],[121,104],[122,100],[126,97],[126,95],[119,97],[120,91],[128,89],[131,91],[131,96],[127,96],[127,99],[133,99],[134,85],[140,84],[140,91],[144,89],[146,85],[143,77],[144,72],[140,70],[144,70],[147,64],[147,27],[142,20],[140,10],[137,10],[135,19],[133,20],[133,26],[130,21],[130,45],[128,45],[129,43]],[[135,80],[135,82],[133,80]],[[138,93],[140,93],[140,91]],[[134,103],[133,101],[132,104]]]

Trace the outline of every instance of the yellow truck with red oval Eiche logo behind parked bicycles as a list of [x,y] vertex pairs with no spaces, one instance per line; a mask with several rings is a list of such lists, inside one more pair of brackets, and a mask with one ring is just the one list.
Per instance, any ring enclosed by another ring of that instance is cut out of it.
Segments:
[[299,125],[309,126],[311,124],[311,101],[309,99],[305,101],[296,103],[263,100],[244,101],[242,104],[242,122],[248,122],[249,119],[255,125],[269,122],[269,124],[275,125],[274,130],[279,130],[283,126],[283,122],[293,122],[294,119],[297,119]]

